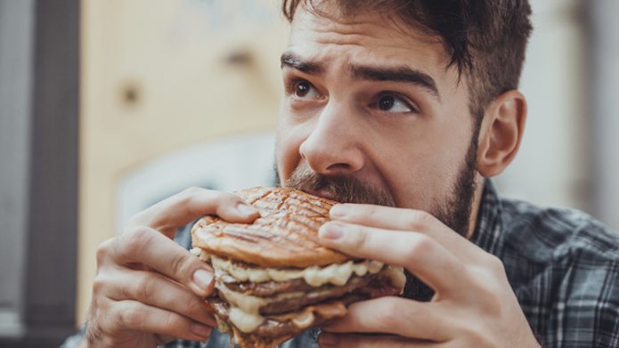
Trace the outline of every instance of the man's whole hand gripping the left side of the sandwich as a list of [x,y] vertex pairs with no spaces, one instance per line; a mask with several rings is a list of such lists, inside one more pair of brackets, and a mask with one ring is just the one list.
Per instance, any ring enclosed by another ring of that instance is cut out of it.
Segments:
[[175,231],[203,214],[250,223],[257,211],[232,194],[192,188],[136,214],[97,250],[86,321],[89,347],[154,347],[173,338],[205,341],[216,322],[203,298],[213,271],[178,246]]

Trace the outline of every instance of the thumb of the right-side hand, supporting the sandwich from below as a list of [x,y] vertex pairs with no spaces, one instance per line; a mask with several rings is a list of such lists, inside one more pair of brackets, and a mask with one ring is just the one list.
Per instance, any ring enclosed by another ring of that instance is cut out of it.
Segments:
[[353,303],[346,316],[323,329],[333,333],[385,333],[444,341],[449,338],[446,317],[438,303],[420,303],[387,296]]

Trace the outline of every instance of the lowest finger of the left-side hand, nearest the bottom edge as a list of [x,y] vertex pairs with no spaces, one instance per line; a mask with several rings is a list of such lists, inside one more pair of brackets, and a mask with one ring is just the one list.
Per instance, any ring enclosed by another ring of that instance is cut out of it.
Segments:
[[142,331],[162,336],[206,341],[213,332],[181,314],[166,311],[148,304],[126,300],[110,309],[111,330]]

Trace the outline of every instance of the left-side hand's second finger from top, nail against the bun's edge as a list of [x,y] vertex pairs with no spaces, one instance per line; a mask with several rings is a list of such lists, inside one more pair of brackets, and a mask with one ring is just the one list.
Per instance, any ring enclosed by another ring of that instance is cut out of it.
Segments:
[[191,255],[174,240],[148,227],[136,228],[118,236],[113,240],[113,246],[103,248],[97,257],[110,257],[113,263],[126,266],[143,264],[189,287],[201,297],[213,292],[213,270],[208,264]]

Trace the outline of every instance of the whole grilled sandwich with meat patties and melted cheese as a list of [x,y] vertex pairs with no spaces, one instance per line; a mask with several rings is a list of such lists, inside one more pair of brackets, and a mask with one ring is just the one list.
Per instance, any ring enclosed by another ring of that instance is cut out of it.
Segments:
[[241,348],[275,347],[343,317],[350,303],[402,294],[402,268],[318,242],[337,202],[287,188],[235,193],[260,216],[249,224],[201,218],[191,230],[191,252],[215,271],[206,301],[219,330]]

